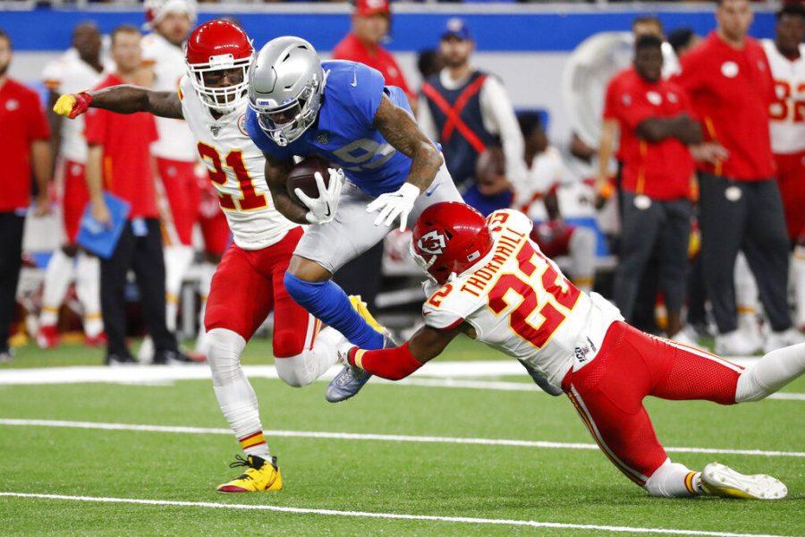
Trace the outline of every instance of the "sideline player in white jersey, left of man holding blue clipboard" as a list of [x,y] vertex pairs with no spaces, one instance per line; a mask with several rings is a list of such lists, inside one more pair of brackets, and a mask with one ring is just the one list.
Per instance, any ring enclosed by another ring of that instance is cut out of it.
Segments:
[[[84,22],[72,31],[72,49],[47,64],[42,79],[49,90],[51,104],[63,93],[74,93],[94,87],[101,80],[104,66],[101,62],[101,37],[96,26]],[[58,155],[56,167],[57,199],[64,224],[64,243],[53,252],[47,262],[45,284],[42,291],[42,312],[39,315],[37,343],[52,348],[59,343],[56,323],[59,309],[73,278],[84,317],[86,345],[103,345],[105,335],[100,311],[100,263],[97,257],[80,250],[76,244],[80,219],[89,202],[89,191],[84,178],[87,162],[87,142],[84,140],[84,122],[61,121],[51,114],[54,132],[54,153]]]

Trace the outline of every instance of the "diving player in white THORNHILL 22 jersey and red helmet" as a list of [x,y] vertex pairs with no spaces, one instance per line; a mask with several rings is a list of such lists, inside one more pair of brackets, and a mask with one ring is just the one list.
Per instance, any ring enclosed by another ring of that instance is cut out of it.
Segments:
[[437,203],[414,226],[411,252],[432,278],[425,326],[401,347],[339,354],[352,367],[402,379],[466,333],[517,358],[538,384],[567,394],[606,456],[653,496],[777,499],[785,485],[711,464],[672,463],[643,407],[645,396],[757,401],[805,370],[805,344],[749,369],[648,336],[598,294],[582,293],[530,240],[531,222],[504,209],[484,220],[461,203]]

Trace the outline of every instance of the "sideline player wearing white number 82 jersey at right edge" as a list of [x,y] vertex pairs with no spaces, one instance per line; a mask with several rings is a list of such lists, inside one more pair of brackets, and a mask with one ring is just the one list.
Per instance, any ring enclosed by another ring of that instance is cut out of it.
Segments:
[[785,222],[795,243],[797,326],[805,330],[805,6],[787,4],[776,17],[775,39],[761,44],[775,79],[776,99],[769,107],[771,144]]

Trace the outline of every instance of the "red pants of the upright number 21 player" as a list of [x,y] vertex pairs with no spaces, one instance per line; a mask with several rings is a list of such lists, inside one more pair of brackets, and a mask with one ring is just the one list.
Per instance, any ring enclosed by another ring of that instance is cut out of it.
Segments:
[[313,347],[320,322],[294,302],[283,278],[302,228],[262,250],[230,245],[212,278],[204,327],[226,328],[249,341],[274,308],[274,355],[287,358]]

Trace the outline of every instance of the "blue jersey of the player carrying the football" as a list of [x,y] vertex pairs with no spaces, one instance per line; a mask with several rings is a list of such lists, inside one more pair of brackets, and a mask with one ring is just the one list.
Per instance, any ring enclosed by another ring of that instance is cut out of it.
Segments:
[[372,125],[384,95],[411,113],[399,88],[385,86],[383,75],[356,62],[322,62],[326,85],[315,124],[285,147],[260,129],[257,113],[246,114],[246,132],[271,158],[318,155],[343,167],[344,175],[361,192],[379,196],[394,192],[408,177],[411,158],[389,144]]

